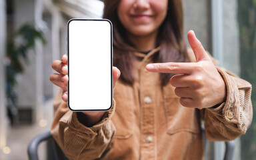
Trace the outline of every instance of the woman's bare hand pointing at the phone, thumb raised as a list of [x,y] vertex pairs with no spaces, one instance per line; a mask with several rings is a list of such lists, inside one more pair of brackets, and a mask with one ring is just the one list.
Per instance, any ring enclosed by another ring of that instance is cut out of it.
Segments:
[[176,73],[170,83],[176,87],[175,94],[181,97],[184,107],[203,109],[224,102],[227,93],[223,78],[195,33],[189,31],[187,38],[195,54],[195,63],[151,63],[146,66],[147,71]]

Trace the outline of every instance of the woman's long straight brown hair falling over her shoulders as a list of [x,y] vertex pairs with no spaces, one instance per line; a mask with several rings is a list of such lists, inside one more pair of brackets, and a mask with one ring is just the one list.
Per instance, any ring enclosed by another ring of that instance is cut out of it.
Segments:
[[[103,18],[113,23],[113,65],[121,71],[121,80],[132,85],[135,81],[133,62],[135,60],[135,46],[125,35],[125,28],[117,16],[120,0],[105,0]],[[181,0],[169,0],[165,20],[159,27],[157,46],[161,46],[159,53],[153,57],[154,62],[183,62],[187,55],[187,47],[183,39],[183,9]],[[161,73],[162,85],[166,85],[173,74]]]

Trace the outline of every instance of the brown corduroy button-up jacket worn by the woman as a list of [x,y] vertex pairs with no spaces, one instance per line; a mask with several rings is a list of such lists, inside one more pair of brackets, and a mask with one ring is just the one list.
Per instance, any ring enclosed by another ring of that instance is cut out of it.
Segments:
[[[59,93],[51,133],[69,159],[203,159],[201,120],[211,141],[229,141],[247,131],[253,114],[250,83],[217,67],[226,101],[201,110],[183,107],[174,87],[161,87],[159,73],[145,70],[158,50],[136,53],[135,83],[117,81],[113,108],[93,127],[79,123]],[[189,57],[194,61],[192,51]]]

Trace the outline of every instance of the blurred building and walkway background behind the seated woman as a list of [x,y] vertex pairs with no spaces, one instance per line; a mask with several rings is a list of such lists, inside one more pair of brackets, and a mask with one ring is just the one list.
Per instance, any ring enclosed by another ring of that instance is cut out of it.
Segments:
[[[98,19],[99,0],[0,0],[0,159],[28,159],[27,146],[49,131],[58,89],[51,63],[67,53],[67,21]],[[256,105],[256,0],[183,0],[185,35],[193,29],[222,67],[253,85]],[[256,110],[235,140],[233,159],[256,159]],[[205,159],[223,159],[223,142],[207,143]],[[39,146],[47,158],[46,145]]]

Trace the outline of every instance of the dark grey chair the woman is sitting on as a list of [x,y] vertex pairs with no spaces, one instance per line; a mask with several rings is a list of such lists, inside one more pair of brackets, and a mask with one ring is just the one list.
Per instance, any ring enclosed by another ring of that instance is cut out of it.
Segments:
[[[29,143],[29,147],[27,148],[29,160],[38,160],[39,159],[37,150],[38,150],[39,144],[43,141],[48,141],[47,147],[50,147],[51,149],[53,149],[53,153],[52,153],[53,155],[51,155],[51,156],[54,156],[53,159],[67,160],[67,157],[65,157],[65,155],[64,155],[63,151],[61,151],[61,148],[59,147],[59,145],[57,145],[57,143],[54,141],[50,132],[37,135],[34,139],[31,140],[31,142]],[[204,135],[204,144],[206,142],[207,142],[207,140]],[[223,159],[224,160],[232,160],[233,152],[235,149],[235,141],[227,141],[227,142],[225,142],[225,146],[226,146],[225,156]],[[49,160],[49,158],[47,158],[47,159]]]

